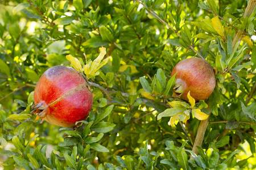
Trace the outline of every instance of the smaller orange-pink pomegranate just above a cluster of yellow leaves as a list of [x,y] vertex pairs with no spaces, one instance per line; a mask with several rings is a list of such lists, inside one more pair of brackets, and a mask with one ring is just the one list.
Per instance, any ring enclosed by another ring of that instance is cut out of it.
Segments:
[[201,58],[188,58],[177,63],[171,76],[177,72],[174,95],[188,101],[187,94],[196,100],[205,100],[212,94],[216,79],[213,67]]

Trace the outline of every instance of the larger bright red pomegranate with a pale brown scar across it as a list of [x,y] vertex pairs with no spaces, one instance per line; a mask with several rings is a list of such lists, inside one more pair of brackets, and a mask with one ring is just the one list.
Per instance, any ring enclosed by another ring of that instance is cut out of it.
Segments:
[[92,108],[92,92],[85,79],[75,69],[54,66],[39,79],[34,92],[36,110],[40,118],[62,127],[76,126]]

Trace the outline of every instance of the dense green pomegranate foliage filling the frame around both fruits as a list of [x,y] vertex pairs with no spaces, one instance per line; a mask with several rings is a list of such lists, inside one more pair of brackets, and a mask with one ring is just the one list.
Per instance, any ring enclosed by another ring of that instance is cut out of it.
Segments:
[[[254,169],[256,20],[255,1],[247,3],[1,1],[0,167]],[[40,75],[55,65],[72,66],[69,54],[84,66],[101,46],[109,60],[88,79],[89,117],[77,128],[35,120],[30,112]],[[168,112],[175,110],[171,105],[188,111],[192,104],[171,97],[171,71],[187,57],[216,68],[213,94],[192,102],[210,115],[204,136],[196,136],[203,126],[190,112],[185,125],[180,115],[168,125],[176,115]]]

